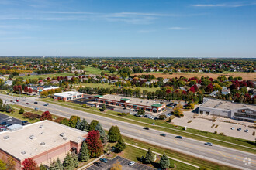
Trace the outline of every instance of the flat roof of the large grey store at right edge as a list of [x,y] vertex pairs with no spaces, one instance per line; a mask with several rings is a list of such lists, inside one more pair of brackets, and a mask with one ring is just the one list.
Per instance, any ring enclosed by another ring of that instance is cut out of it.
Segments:
[[222,110],[236,110],[241,108],[251,108],[253,110],[256,110],[256,105],[253,104],[238,104],[238,103],[232,103],[231,101],[227,100],[216,100],[216,99],[206,99],[207,101],[204,102],[201,107],[211,107],[216,109],[222,109]]

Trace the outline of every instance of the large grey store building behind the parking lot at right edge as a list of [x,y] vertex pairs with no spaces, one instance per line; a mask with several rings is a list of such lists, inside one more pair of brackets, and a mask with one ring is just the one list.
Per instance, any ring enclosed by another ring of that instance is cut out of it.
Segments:
[[229,117],[239,121],[256,121],[256,105],[238,104],[227,100],[204,98],[199,114]]

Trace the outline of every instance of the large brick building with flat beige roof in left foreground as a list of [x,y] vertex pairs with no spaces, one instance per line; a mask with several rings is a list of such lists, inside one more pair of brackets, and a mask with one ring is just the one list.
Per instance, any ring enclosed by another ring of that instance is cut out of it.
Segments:
[[26,158],[33,158],[37,165],[50,165],[57,158],[63,159],[69,151],[80,151],[85,138],[85,131],[53,121],[40,121],[15,131],[1,132],[0,158],[6,161],[12,156],[16,169],[22,169]]

